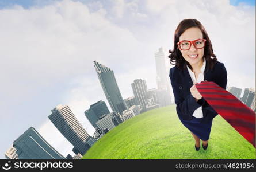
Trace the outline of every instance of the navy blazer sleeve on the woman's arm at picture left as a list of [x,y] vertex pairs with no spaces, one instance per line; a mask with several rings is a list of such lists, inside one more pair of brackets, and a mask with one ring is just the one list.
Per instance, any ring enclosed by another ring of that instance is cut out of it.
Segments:
[[171,69],[169,76],[171,80],[171,87],[173,88],[177,114],[181,116],[192,116],[194,111],[201,105],[197,103],[191,93],[186,96],[185,99],[182,98],[179,85],[174,80],[173,71]]

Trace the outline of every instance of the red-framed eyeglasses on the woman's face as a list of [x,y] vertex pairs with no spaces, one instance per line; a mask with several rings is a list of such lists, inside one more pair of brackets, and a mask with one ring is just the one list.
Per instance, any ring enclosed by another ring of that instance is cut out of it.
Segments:
[[206,41],[205,39],[197,39],[194,41],[185,40],[185,41],[177,42],[177,44],[181,50],[189,50],[192,44],[196,49],[202,49],[205,46],[205,41]]

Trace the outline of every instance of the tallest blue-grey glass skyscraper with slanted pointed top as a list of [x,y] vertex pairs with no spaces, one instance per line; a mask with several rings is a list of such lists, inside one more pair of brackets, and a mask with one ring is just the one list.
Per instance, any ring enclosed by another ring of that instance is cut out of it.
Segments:
[[119,87],[116,82],[116,77],[114,77],[114,72],[112,69],[105,67],[104,65],[94,62],[94,67],[100,80],[101,87],[105,93],[106,99],[109,102],[112,111],[123,114],[124,110],[127,110],[127,105],[125,104],[123,97],[121,96]]

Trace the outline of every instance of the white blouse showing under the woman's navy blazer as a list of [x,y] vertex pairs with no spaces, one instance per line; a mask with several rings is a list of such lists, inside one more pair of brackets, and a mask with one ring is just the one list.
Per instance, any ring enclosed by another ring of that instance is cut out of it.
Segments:
[[[196,76],[194,75],[194,72],[191,71],[191,69],[189,69],[188,65],[187,65],[187,68],[188,68],[188,71],[189,71],[189,75],[193,81],[193,84],[196,84],[196,83],[201,83],[201,81],[204,81],[204,69],[205,69],[205,60],[202,64],[202,67],[201,67],[201,73],[199,73],[197,79],[196,79]],[[196,117],[196,118],[202,118],[202,107],[198,107],[194,113],[193,113],[193,116]]]

